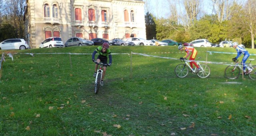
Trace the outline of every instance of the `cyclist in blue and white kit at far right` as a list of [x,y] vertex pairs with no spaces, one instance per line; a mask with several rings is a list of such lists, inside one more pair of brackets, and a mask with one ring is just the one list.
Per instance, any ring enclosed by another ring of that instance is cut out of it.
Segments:
[[[246,51],[246,49],[244,49],[243,47],[239,46],[238,42],[232,43],[232,47],[234,49],[236,49],[236,51],[237,51],[237,56],[235,58],[232,58],[232,60],[235,62],[238,57],[240,57],[242,54],[244,54],[244,57],[242,59],[244,74],[250,74],[250,72],[252,72],[252,69],[247,67],[247,65],[245,64],[247,58],[249,58],[249,56],[250,56],[249,52]],[[247,67],[247,69],[248,69],[247,73],[246,73],[245,67]]]

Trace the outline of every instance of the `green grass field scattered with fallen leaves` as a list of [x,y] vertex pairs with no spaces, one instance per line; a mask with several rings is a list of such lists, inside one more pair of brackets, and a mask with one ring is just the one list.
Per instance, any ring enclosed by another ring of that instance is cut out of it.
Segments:
[[[224,78],[226,65],[208,64],[211,74],[178,78],[181,62],[132,54],[180,58],[177,47],[110,47],[112,66],[94,94],[96,46],[30,49],[6,55],[0,80],[1,136],[253,136],[255,81]],[[232,48],[196,48],[202,61],[230,62]],[[251,54],[256,50],[248,49]],[[14,54],[18,52],[19,54]],[[88,54],[36,54],[36,53]],[[156,52],[156,53],[155,53]],[[172,53],[158,53],[172,52]],[[34,56],[20,53],[34,53]],[[256,58],[251,55],[250,58]],[[239,58],[242,59],[241,57]],[[252,62],[256,64],[256,60]],[[131,68],[132,64],[132,68]],[[240,84],[227,84],[238,82]]]

